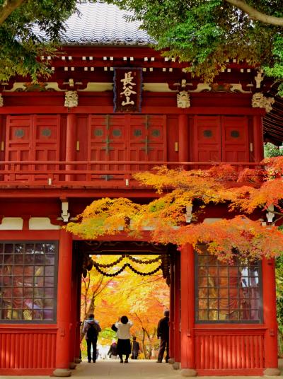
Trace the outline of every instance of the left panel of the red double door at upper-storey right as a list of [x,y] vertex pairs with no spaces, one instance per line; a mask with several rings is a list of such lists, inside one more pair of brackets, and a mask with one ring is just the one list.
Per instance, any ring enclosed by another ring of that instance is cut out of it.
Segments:
[[194,151],[196,162],[221,161],[221,118],[219,116],[195,116]]

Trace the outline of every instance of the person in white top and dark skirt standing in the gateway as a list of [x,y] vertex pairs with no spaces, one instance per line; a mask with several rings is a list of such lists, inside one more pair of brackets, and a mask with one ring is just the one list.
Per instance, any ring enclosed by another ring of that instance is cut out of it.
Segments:
[[128,320],[127,316],[122,316],[115,323],[115,327],[117,327],[117,351],[118,356],[120,356],[120,363],[123,363],[123,355],[126,356],[125,363],[128,363],[129,354],[131,354],[131,334],[129,330],[131,329],[133,323]]

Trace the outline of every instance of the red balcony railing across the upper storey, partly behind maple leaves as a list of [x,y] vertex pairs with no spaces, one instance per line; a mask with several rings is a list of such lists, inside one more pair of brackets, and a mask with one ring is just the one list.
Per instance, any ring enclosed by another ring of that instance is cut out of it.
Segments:
[[[236,170],[261,168],[260,163],[222,162]],[[221,163],[166,161],[0,161],[0,186],[140,187],[133,174],[156,166],[205,169]]]

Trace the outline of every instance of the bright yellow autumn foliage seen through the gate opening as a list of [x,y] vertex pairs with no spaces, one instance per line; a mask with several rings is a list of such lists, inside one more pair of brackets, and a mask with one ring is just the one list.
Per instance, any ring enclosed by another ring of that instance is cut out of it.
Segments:
[[[126,315],[133,323],[131,344],[134,337],[139,343],[138,359],[156,360],[158,321],[170,309],[172,253],[168,247],[149,243],[124,242],[120,254],[113,251],[115,243],[102,245],[95,243],[94,248],[81,254],[81,331],[83,322],[93,313],[101,327],[97,360],[116,359],[110,349],[117,342],[112,325]],[[122,247],[120,242],[117,245]],[[85,339],[81,342],[81,358],[88,360]]]

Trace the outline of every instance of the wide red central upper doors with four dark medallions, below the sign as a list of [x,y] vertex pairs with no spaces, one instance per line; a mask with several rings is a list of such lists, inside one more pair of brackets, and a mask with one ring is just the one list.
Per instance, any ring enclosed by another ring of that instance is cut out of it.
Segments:
[[[91,115],[88,159],[91,161],[166,161],[166,117]],[[93,164],[93,170],[147,170],[150,165]]]

